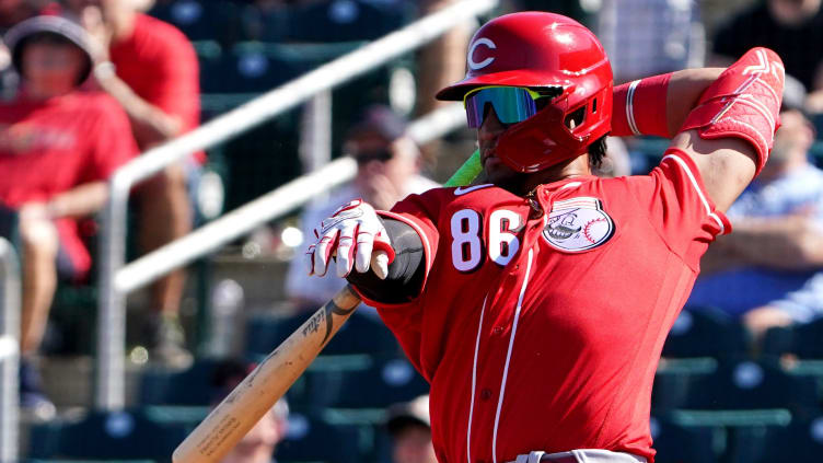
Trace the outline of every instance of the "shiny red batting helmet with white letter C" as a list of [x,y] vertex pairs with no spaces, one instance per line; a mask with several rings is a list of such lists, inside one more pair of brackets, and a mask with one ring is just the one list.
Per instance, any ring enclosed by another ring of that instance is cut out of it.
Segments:
[[598,37],[560,14],[496,18],[472,37],[465,79],[439,100],[463,100],[487,85],[560,88],[534,116],[501,136],[497,155],[519,172],[536,172],[584,153],[612,126],[612,67]]

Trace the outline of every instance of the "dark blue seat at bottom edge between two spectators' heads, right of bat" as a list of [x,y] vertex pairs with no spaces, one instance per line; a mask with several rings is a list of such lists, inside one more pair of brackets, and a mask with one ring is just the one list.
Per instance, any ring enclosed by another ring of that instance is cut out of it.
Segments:
[[278,462],[359,463],[370,450],[361,447],[360,432],[355,425],[291,413],[286,439],[277,444],[275,456]]

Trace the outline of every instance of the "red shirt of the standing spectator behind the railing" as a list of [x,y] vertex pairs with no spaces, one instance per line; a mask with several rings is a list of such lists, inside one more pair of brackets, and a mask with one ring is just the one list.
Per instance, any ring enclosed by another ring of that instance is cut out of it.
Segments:
[[[141,99],[179,117],[184,130],[200,123],[200,81],[192,43],[173,25],[138,14],[135,31],[109,49],[117,77]],[[199,160],[205,160],[202,152]]]

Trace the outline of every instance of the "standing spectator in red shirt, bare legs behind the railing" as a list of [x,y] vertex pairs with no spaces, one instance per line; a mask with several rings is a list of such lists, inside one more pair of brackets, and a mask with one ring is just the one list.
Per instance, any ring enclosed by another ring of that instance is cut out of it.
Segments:
[[[130,0],[67,0],[101,44],[94,77],[126,109],[140,150],[186,132],[199,124],[197,56],[174,26],[139,13]],[[139,239],[152,251],[188,233],[193,211],[187,180],[199,174],[198,161],[175,164],[138,190]],[[153,359],[183,366],[192,360],[184,347],[178,309],[185,274],[177,270],[152,287],[155,310],[146,324]]]

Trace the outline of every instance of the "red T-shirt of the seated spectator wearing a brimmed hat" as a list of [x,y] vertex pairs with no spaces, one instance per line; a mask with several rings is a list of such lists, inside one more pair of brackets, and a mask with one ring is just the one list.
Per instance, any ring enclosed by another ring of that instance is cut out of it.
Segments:
[[[74,92],[44,102],[22,96],[0,103],[0,202],[18,208],[47,201],[89,182],[106,180],[137,154],[128,118],[117,102],[97,92]],[[91,266],[77,222],[57,230],[76,269]]]

